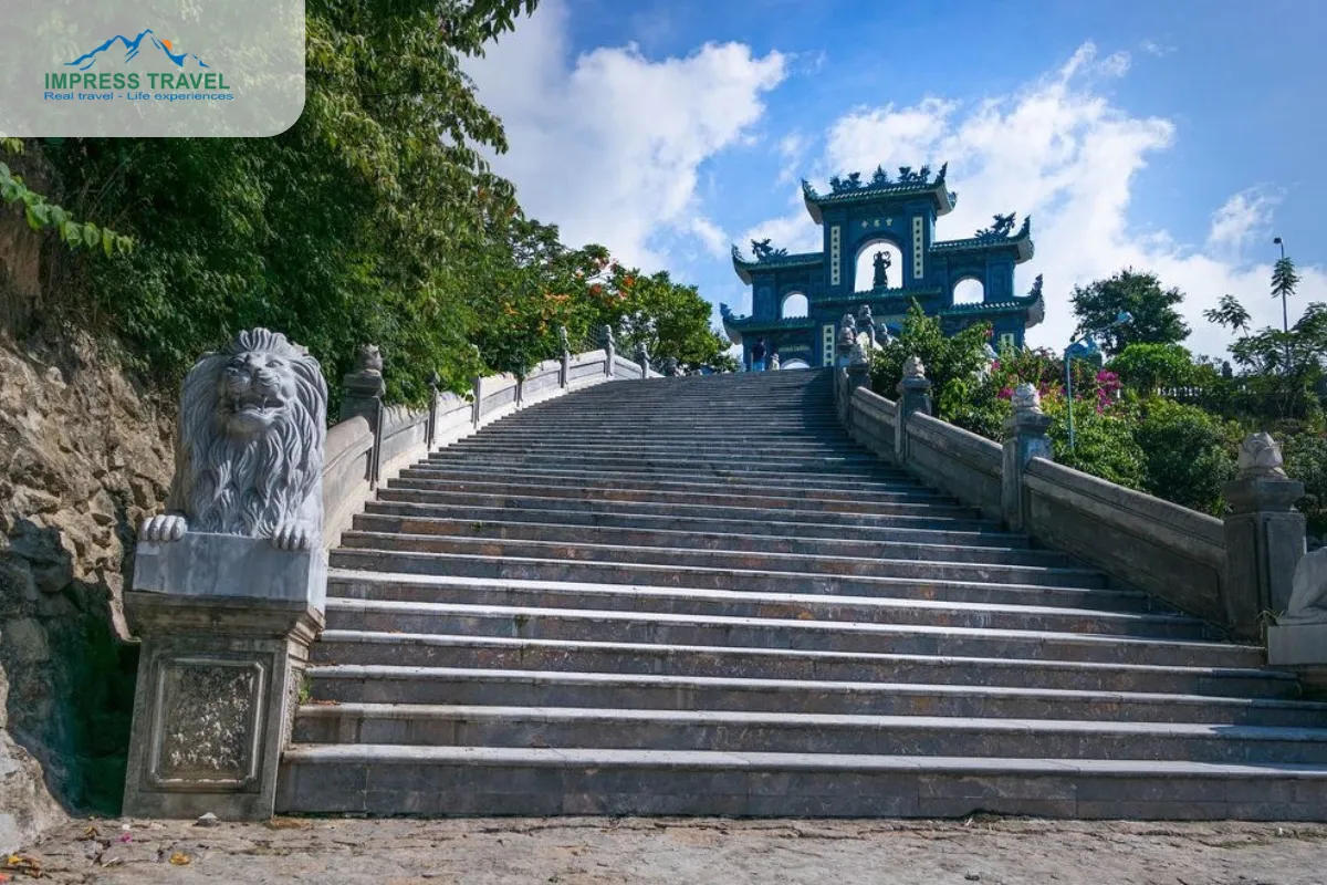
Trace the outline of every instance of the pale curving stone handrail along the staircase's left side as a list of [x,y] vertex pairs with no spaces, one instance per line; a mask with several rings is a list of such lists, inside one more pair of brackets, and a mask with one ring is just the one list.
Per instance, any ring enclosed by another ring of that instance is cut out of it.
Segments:
[[[612,372],[610,372],[612,368]],[[565,354],[540,362],[524,378],[496,374],[475,378],[470,397],[434,391],[429,409],[369,402],[328,430],[322,470],[322,545],[336,547],[381,483],[422,460],[439,446],[467,437],[504,415],[614,378],[658,378],[606,350]],[[378,394],[381,397],[381,394]],[[373,398],[370,398],[373,399]]]

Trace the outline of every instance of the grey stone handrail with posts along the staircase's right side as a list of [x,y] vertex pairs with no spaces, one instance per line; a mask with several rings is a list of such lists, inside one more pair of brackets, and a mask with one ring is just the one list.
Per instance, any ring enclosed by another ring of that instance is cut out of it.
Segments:
[[1263,612],[1285,609],[1303,517],[1273,500],[1277,483],[1296,486],[1283,474],[1242,472],[1227,488],[1237,512],[1222,520],[1056,464],[1031,391],[1001,444],[933,418],[929,399],[909,402],[929,389],[924,377],[898,402],[868,381],[865,369],[835,370],[853,439],[983,516],[1243,637],[1259,636]]

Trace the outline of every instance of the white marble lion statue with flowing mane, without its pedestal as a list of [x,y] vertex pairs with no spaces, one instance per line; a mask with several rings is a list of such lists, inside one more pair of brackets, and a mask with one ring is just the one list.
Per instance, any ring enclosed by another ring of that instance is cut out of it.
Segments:
[[317,547],[326,401],[317,360],[277,332],[240,332],[204,354],[180,393],[167,512],[143,523],[143,540],[188,531]]

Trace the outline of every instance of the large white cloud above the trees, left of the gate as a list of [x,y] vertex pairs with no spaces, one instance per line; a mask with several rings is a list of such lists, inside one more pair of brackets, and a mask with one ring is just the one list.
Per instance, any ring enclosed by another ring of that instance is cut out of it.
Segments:
[[565,20],[564,3],[541,3],[467,66],[507,127],[511,151],[495,170],[516,182],[529,214],[561,227],[565,243],[602,243],[646,268],[666,264],[650,248],[661,234],[697,236],[715,252],[726,238],[702,211],[698,167],[750,143],[786,57],[729,42],[662,61],[634,45],[572,60]]

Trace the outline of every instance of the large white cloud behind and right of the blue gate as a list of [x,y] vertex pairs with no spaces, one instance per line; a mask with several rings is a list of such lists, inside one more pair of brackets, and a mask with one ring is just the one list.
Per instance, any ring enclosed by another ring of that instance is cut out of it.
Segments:
[[[1034,345],[1068,342],[1075,284],[1132,265],[1186,293],[1181,309],[1194,330],[1188,344],[1216,354],[1227,337],[1202,310],[1225,293],[1237,295],[1255,324],[1279,325],[1279,308],[1267,295],[1270,263],[1247,264],[1237,248],[1266,231],[1275,200],[1257,188],[1231,195],[1214,211],[1208,240],[1196,245],[1164,228],[1132,228],[1135,176],[1152,155],[1170,147],[1174,125],[1132,115],[1096,90],[1103,78],[1127,70],[1128,56],[1097,60],[1096,48],[1084,44],[1059,69],[1011,96],[859,107],[829,129],[824,165],[816,171],[869,174],[876,163],[936,167],[947,159],[961,199],[940,219],[938,234],[946,239],[969,236],[995,212],[1031,214],[1036,256],[1018,268],[1018,287],[1026,291],[1035,275],[1046,275],[1047,320],[1030,332]],[[803,227],[816,231],[799,207],[752,230],[792,244],[802,241]],[[1296,312],[1308,301],[1327,300],[1322,268],[1302,268],[1302,276],[1298,309],[1291,305]]]

